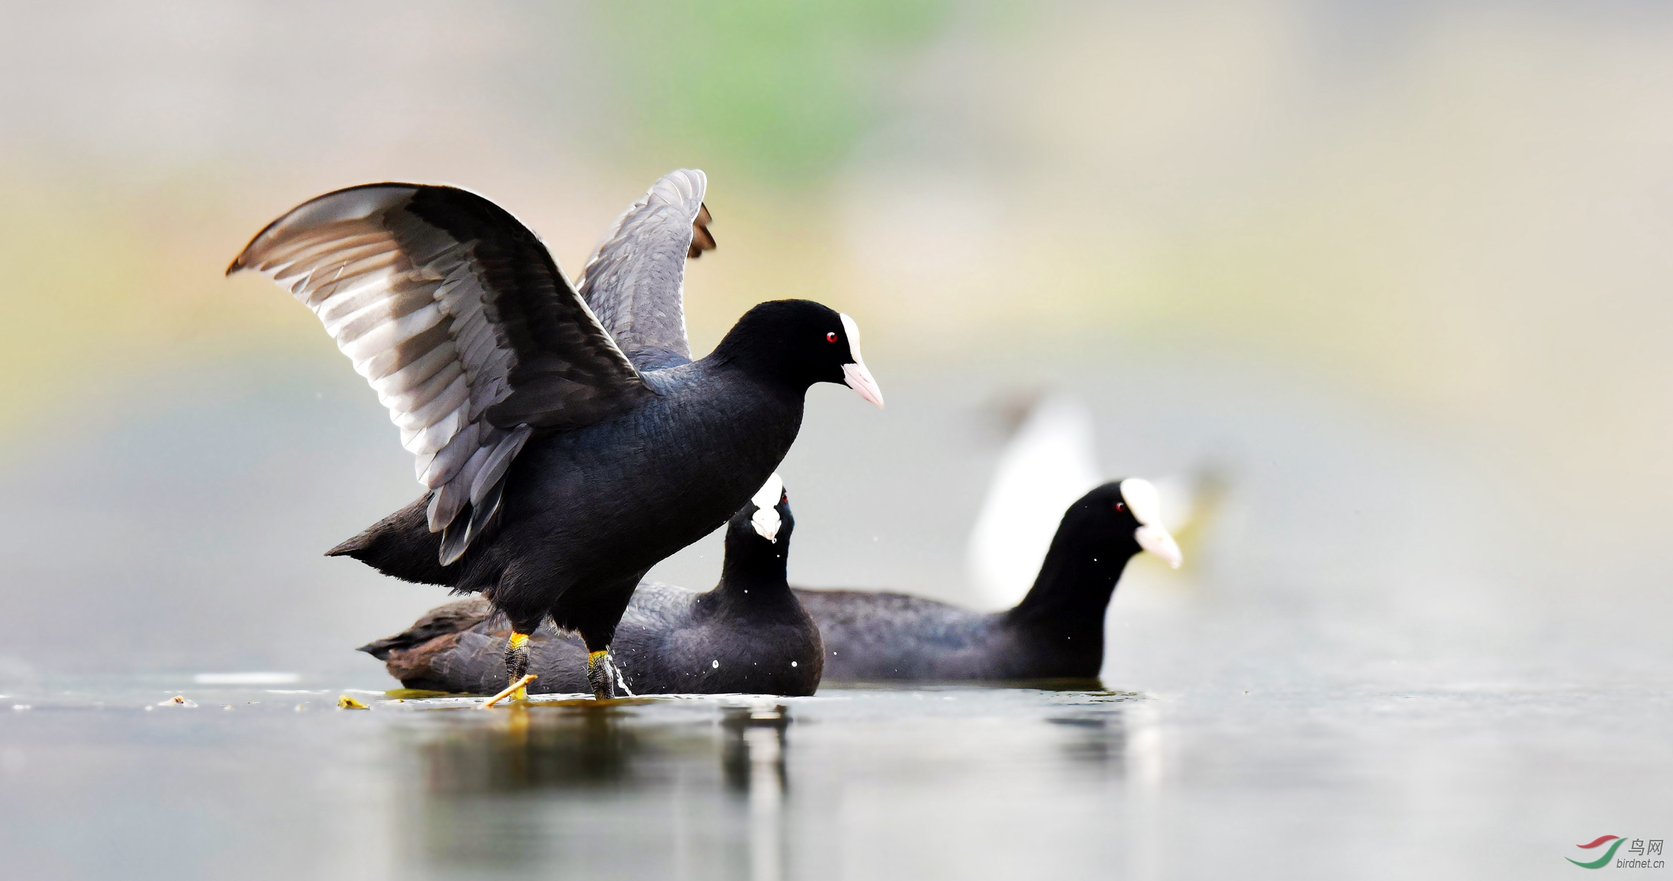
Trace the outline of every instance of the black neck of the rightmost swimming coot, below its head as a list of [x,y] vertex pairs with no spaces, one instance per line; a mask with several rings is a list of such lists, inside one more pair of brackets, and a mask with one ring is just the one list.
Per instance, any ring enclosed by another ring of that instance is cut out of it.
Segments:
[[[1029,595],[1005,612],[1007,624],[1036,632],[1074,654],[1104,650],[1104,610],[1138,548],[1111,547],[1059,530]],[[1064,639],[1067,637],[1067,639]],[[1072,645],[1071,645],[1072,644]]]

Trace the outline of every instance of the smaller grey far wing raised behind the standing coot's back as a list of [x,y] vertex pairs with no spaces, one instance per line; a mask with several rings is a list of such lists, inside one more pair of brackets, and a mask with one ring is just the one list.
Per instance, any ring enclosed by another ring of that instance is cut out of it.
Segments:
[[714,249],[708,177],[663,176],[627,207],[587,261],[581,296],[641,369],[691,361],[686,343],[686,259]]

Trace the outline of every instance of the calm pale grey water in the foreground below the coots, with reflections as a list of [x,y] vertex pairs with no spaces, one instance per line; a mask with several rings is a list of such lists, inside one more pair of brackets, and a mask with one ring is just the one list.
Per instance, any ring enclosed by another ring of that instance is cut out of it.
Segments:
[[1633,689],[159,685],[7,695],[8,878],[1546,878],[1673,781]]

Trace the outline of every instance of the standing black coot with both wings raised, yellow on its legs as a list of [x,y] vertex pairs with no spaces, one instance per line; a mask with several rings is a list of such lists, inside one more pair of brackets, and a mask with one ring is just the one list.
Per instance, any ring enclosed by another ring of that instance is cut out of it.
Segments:
[[308,304],[418,458],[425,495],[331,553],[490,598],[514,679],[550,615],[612,695],[606,650],[634,585],[761,486],[808,386],[882,406],[853,319],[810,301],[763,303],[689,359],[684,261],[714,246],[704,187],[698,171],[657,181],[581,293],[507,211],[420,184],[311,199],[228,267]]

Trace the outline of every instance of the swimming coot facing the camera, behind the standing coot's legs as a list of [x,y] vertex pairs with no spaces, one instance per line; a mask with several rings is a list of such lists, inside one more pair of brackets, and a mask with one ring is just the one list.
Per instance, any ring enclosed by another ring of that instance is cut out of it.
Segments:
[[[714,590],[646,582],[634,592],[611,655],[631,694],[813,694],[820,629],[785,583],[790,497],[778,475],[726,527]],[[509,680],[500,660],[510,624],[487,600],[435,609],[412,629],[360,650],[408,689],[492,694]],[[587,647],[550,622],[529,640],[530,692],[586,690]]]

